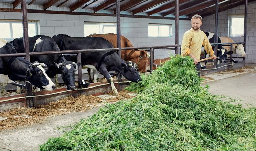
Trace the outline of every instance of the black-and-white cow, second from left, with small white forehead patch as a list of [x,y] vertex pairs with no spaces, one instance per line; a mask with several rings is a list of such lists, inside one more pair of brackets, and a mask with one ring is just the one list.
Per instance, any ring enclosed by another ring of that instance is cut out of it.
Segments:
[[[23,38],[14,39],[12,45],[15,47],[18,53],[24,52]],[[29,51],[60,51],[60,49],[51,37],[37,35],[34,37],[29,37]],[[31,62],[39,61],[45,63],[49,67],[46,74],[50,78],[53,78],[56,74],[61,74],[67,89],[75,89],[75,71],[78,69],[80,64],[78,65],[75,62],[67,61],[62,54],[36,55],[31,56],[30,60]]]

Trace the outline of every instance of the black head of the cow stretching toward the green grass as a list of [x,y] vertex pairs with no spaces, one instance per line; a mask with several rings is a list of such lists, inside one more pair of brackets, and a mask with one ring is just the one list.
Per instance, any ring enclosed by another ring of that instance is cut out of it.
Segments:
[[139,82],[141,81],[141,77],[138,71],[132,67],[132,62],[129,61],[128,63],[121,63],[121,74],[131,82]]

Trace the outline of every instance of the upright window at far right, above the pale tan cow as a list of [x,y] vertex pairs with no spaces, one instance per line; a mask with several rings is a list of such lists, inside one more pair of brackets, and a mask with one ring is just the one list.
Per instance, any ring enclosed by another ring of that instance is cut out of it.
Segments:
[[244,15],[230,16],[229,25],[229,36],[244,36]]

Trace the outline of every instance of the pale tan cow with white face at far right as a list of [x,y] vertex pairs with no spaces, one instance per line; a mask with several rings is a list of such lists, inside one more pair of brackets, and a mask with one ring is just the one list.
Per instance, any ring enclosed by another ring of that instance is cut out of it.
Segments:
[[[228,37],[220,37],[222,43],[233,43],[234,41]],[[230,51],[230,46],[223,46],[224,49],[227,49],[227,52]],[[246,57],[244,52],[244,46],[242,44],[233,44],[232,45],[233,53],[236,53],[239,56]],[[227,56],[229,57],[229,56]]]

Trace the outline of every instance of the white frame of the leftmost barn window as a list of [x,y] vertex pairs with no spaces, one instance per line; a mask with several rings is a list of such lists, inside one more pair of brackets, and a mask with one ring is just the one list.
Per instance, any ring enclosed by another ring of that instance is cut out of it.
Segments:
[[[12,24],[13,23],[21,23],[22,24],[22,20],[0,20],[0,23],[8,23],[9,26],[10,26],[10,37],[11,38],[3,38],[4,40],[6,41],[12,41],[14,40],[15,38],[13,38],[13,28],[12,28]],[[36,35],[39,35],[39,21],[38,20],[28,20],[28,24],[35,24],[35,32],[36,32]],[[23,25],[23,24],[22,24]],[[24,35],[23,35],[24,37]]]

